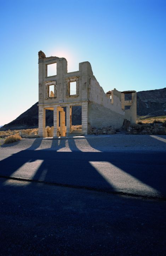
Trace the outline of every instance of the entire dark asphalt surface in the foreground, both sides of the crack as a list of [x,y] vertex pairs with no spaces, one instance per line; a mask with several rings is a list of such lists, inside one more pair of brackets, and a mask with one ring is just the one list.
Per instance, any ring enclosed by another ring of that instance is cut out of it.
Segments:
[[19,145],[0,151],[0,255],[165,255],[164,152]]

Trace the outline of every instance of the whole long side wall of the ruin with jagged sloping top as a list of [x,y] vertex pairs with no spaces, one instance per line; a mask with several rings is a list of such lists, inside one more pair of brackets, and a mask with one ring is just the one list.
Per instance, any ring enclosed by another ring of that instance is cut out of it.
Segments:
[[94,76],[90,79],[88,90],[88,127],[122,127],[125,112],[121,108],[121,92],[112,90],[112,99],[110,99]]

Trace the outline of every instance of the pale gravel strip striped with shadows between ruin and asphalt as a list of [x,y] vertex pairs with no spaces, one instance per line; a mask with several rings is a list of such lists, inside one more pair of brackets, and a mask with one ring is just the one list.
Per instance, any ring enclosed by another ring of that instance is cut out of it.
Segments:
[[22,139],[12,144],[2,144],[0,152],[7,150],[56,150],[82,152],[111,151],[166,151],[166,135],[87,135],[85,137],[70,137],[61,139],[36,138]]

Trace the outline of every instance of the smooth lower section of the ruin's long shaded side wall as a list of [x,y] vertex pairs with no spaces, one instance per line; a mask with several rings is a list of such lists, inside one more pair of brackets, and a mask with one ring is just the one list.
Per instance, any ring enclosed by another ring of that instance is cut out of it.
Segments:
[[108,127],[121,128],[124,122],[124,114],[119,114],[101,104],[89,102],[88,104],[88,127]]

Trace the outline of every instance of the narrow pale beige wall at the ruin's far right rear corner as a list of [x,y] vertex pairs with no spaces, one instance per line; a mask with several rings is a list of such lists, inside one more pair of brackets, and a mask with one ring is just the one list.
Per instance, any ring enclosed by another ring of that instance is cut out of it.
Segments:
[[137,93],[133,93],[133,102],[130,109],[125,110],[125,119],[135,124],[137,120]]

